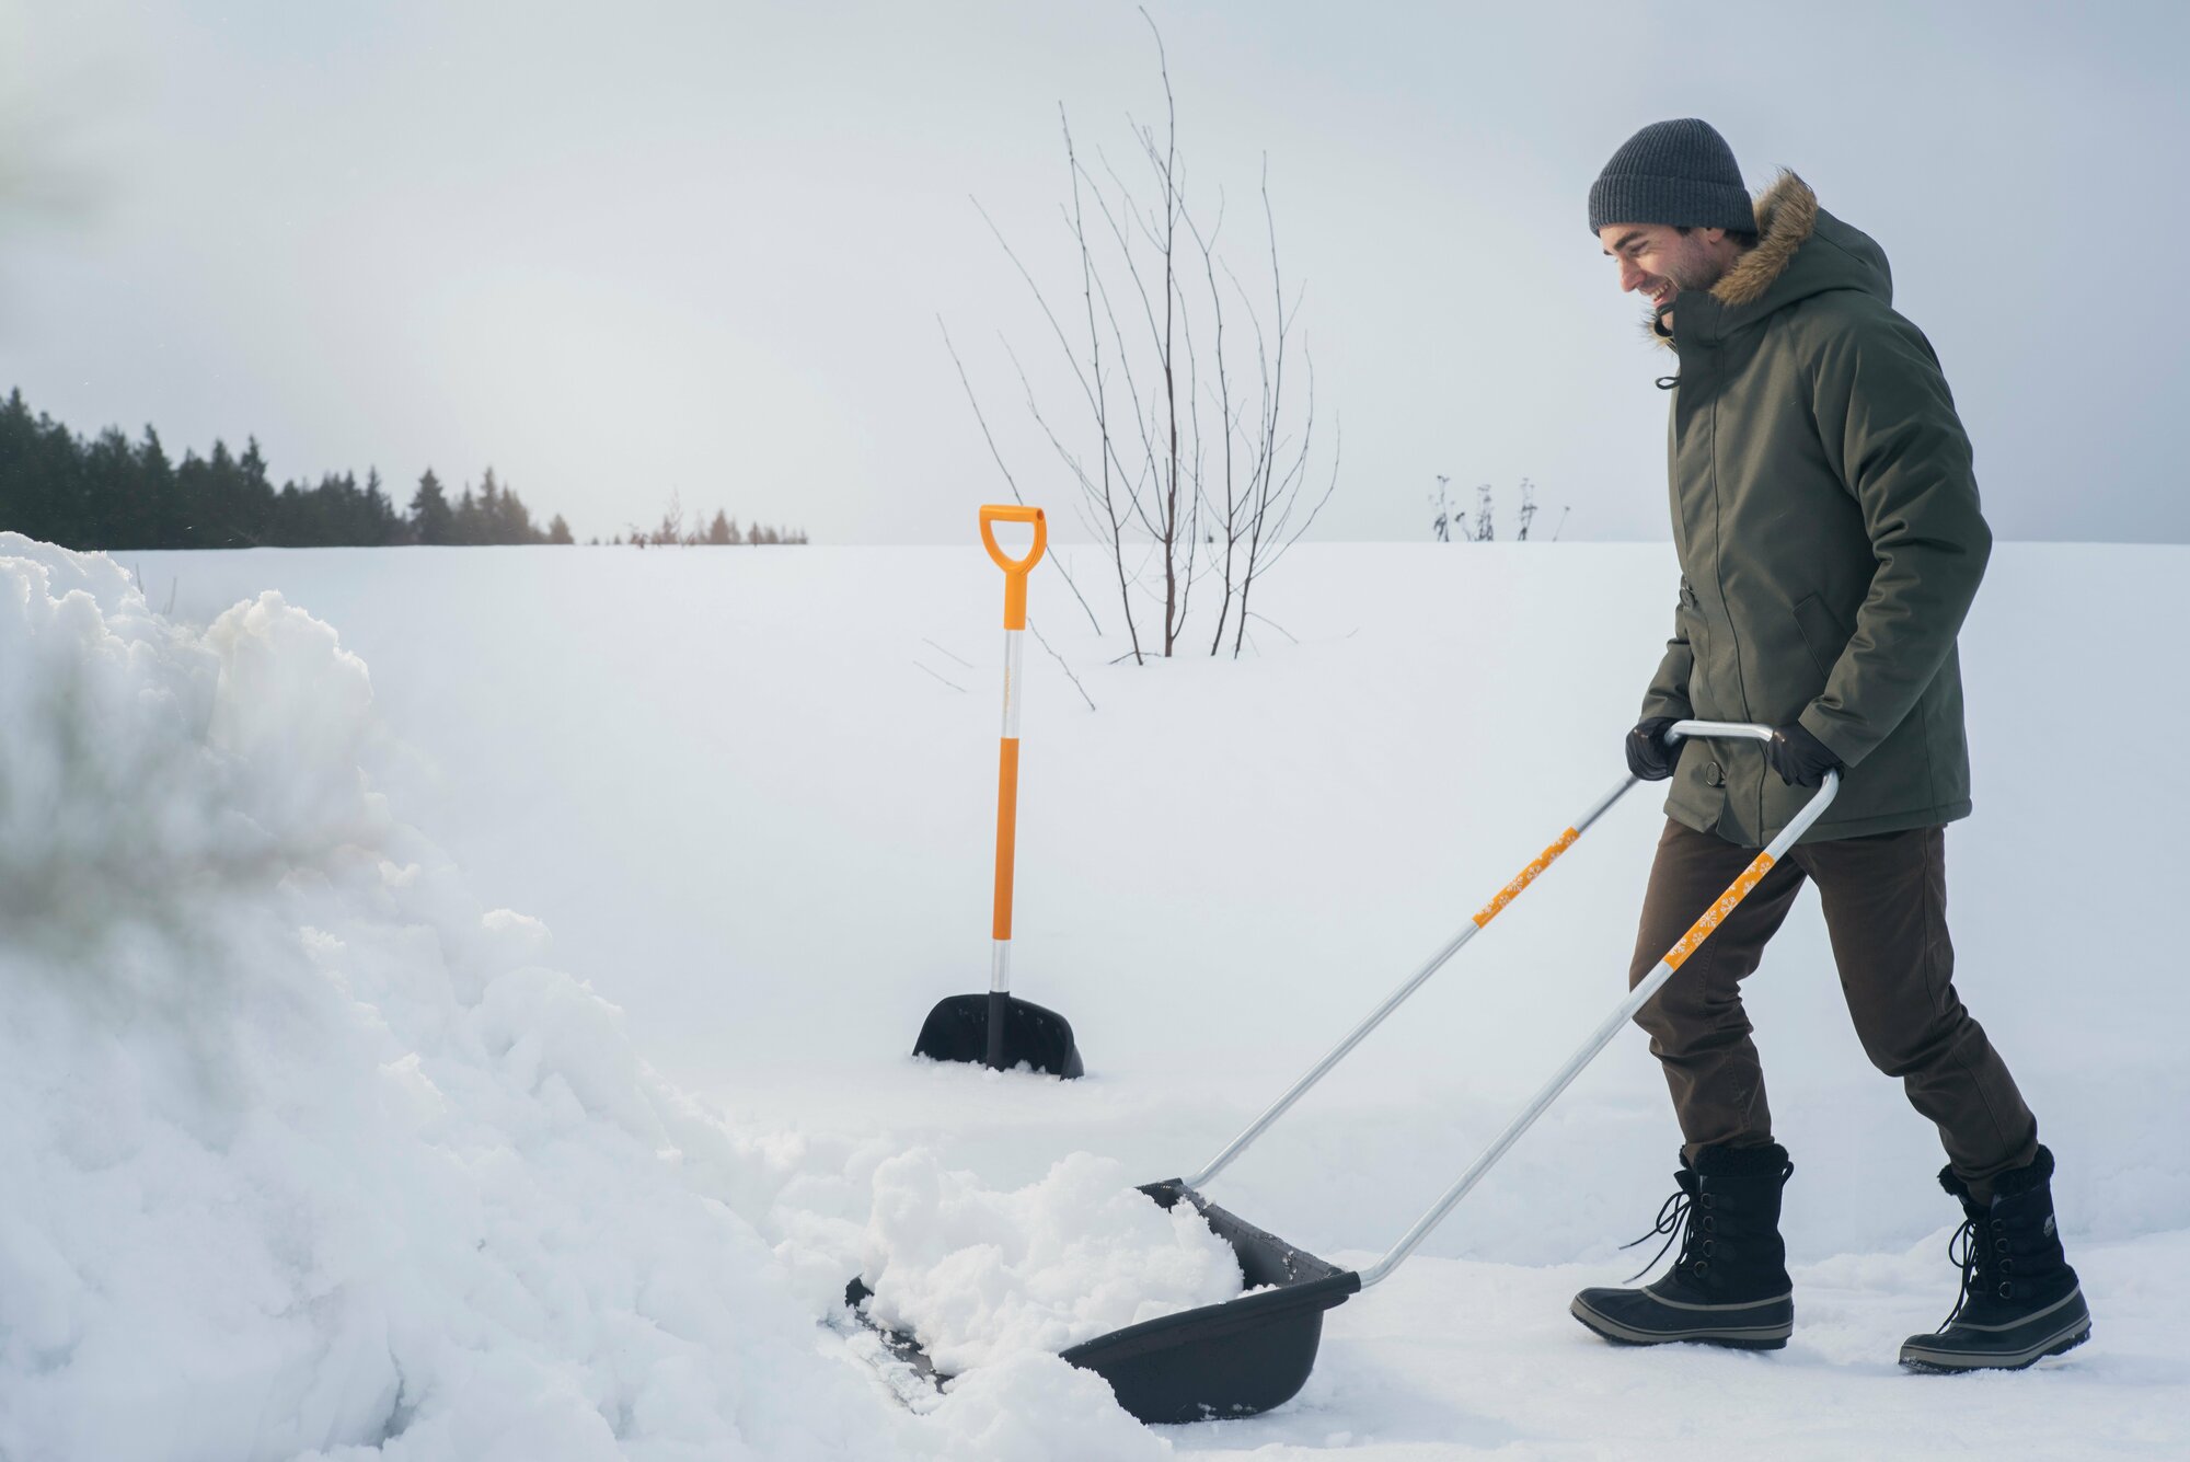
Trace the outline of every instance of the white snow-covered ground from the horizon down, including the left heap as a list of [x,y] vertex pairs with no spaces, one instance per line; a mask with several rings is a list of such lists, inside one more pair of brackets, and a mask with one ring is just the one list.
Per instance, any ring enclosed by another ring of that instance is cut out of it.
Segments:
[[[2061,1158],[2089,1346],[1892,1364],[1958,1215],[1805,902],[1750,996],[1785,1353],[1564,1313],[1671,1188],[1634,1035],[1332,1311],[1294,1403],[1156,1431],[1038,1355],[896,1405],[823,1326],[876,1169],[1198,1167],[1616,779],[1669,549],[1303,547],[1246,659],[1148,668],[1091,558],[1110,637],[1040,571],[1016,972],[1075,1083],[907,1057],[988,974],[977,547],[120,567],[142,600],[0,538],[11,1462],[2190,1451],[2186,549],[2006,545],[1964,635],[1958,983]],[[1211,1195],[1373,1258],[1616,1000],[1658,816],[1629,794]]]

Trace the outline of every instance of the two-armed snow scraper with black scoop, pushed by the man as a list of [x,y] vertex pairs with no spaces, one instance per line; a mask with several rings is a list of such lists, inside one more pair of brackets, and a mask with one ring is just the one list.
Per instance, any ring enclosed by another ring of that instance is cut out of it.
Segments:
[[[1678,722],[1669,733],[1669,740],[1684,738],[1739,738],[1739,740],[1770,740],[1770,727],[1752,727],[1741,722],[1724,720],[1684,720]],[[1240,1276],[1253,1293],[1242,1293],[1237,1300],[1226,1300],[1222,1304],[1204,1304],[1200,1309],[1180,1311],[1176,1315],[1163,1315],[1159,1320],[1145,1320],[1141,1324],[1128,1324],[1126,1328],[1110,1331],[1108,1335],[1097,1335],[1084,1344],[1064,1350],[1064,1359],[1084,1370],[1102,1374],[1110,1390],[1117,1394],[1117,1403],[1126,1407],[1132,1416],[1143,1423],[1187,1423],[1207,1420],[1222,1416],[1253,1416],[1257,1412],[1268,1412],[1270,1407],[1290,1401],[1301,1385],[1307,1381],[1307,1372],[1316,1364],[1316,1344],[1323,1337],[1323,1311],[1345,1304],[1347,1298],[1382,1283],[1391,1276],[1399,1263],[1421,1245],[1430,1232],[1443,1223],[1445,1215],[1467,1197],[1483,1175],[1496,1164],[1513,1142],[1520,1140],[1535,1118],[1540,1118],[1559,1092],[1572,1083],[1581,1070],[1597,1059],[1612,1037],[1634,1020],[1634,1013],[1658,994],[1660,987],[1673,972],[1680,970],[1710,930],[1726,919],[1734,906],[1750,895],[1750,891],[1763,880],[1772,865],[1787,856],[1805,832],[1818,821],[1818,816],[1831,805],[1833,797],[1840,792],[1840,775],[1826,773],[1824,786],[1818,794],[1787,823],[1785,832],[1772,840],[1772,845],[1756,854],[1748,869],[1721,893],[1710,908],[1706,908],[1688,932],[1664,952],[1658,967],[1636,985],[1618,1007],[1605,1016],[1605,1020],[1590,1033],[1581,1048],[1568,1057],[1568,1061],[1544,1083],[1544,1088],[1529,1099],[1529,1105],[1507,1123],[1483,1156],[1461,1173],[1445,1193],[1424,1212],[1406,1234],[1399,1237],[1391,1250],[1384,1252],[1373,1265],[1362,1269],[1340,1269],[1314,1254],[1299,1250],[1283,1239],[1268,1234],[1253,1223],[1246,1223],[1237,1215],[1218,1208],[1200,1188],[1220,1171],[1224,1171],[1233,1158],[1237,1158],[1246,1147],[1259,1138],[1279,1116],[1283,1116],[1294,1101],[1299,1101],[1312,1086],[1316,1086],[1338,1061],[1360,1044],[1369,1031],[1378,1029],[1386,1016],[1399,1009],[1408,996],[1413,996],[1437,970],[1461,952],[1469,939],[1476,937],[1498,913],[1511,904],[1522,889],[1526,889],[1535,878],[1548,869],[1559,854],[1575,845],[1575,840],[1601,819],[1612,803],[1616,803],[1627,788],[1636,784],[1634,777],[1621,781],[1612,792],[1601,797],[1575,825],[1564,829],[1557,840],[1551,843],[1537,858],[1524,867],[1513,882],[1498,891],[1498,895],[1483,906],[1480,913],[1469,919],[1469,924],[1454,935],[1437,954],[1432,954],[1404,985],[1399,985],[1375,1011],[1369,1013],[1353,1031],[1338,1042],[1321,1061],[1316,1061],[1305,1077],[1292,1083],[1283,1096],[1279,1096],[1270,1107],[1257,1116],[1246,1132],[1231,1140],[1215,1158],[1211,1158],[1191,1177],[1169,1177],[1165,1182],[1152,1182],[1141,1188],[1161,1206],[1172,1208],[1180,1202],[1194,1204],[1209,1228],[1215,1230],[1233,1252],[1240,1256]],[[852,1280],[845,1289],[845,1302],[854,1313],[861,1313],[861,1304],[867,1300],[869,1289],[861,1280]],[[869,1324],[874,1324],[869,1320]],[[876,1326],[880,1328],[880,1326]],[[902,1335],[894,1331],[883,1333],[883,1344],[887,1344],[900,1359],[911,1361],[922,1374],[935,1381],[946,1377],[935,1377],[926,1357],[920,1353],[918,1339],[913,1335]]]

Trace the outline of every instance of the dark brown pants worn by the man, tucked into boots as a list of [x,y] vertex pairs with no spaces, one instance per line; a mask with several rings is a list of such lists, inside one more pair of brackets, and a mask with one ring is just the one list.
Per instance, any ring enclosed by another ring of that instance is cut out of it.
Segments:
[[[2037,1118],[1984,1026],[1953,994],[1945,849],[1943,827],[1796,847],[1636,1013],[1673,1088],[1688,1162],[1699,1147],[1772,1140],[1741,981],[1756,970],[1805,878],[1818,880],[1840,989],[1864,1053],[1888,1077],[1901,1077],[1910,1105],[1938,1125],[1956,1175],[1982,1199],[1997,1173],[2037,1158]],[[1629,987],[1658,967],[1754,856],[1667,821]]]

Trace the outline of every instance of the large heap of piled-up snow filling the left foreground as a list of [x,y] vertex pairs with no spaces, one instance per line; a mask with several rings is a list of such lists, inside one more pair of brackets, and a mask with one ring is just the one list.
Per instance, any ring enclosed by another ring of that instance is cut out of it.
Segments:
[[9,534],[0,663],[0,1455],[1154,1444],[1058,1361],[894,1412],[756,1228],[784,1175],[368,790],[328,626]]

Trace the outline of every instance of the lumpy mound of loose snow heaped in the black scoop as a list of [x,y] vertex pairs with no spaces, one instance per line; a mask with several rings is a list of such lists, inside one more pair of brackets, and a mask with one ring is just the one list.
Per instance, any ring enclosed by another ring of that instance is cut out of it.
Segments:
[[869,1315],[913,1333],[937,1370],[1064,1350],[1240,1293],[1240,1261],[1187,1204],[1159,1208],[1126,1167],[1073,1153],[1016,1193],[915,1149],[874,1173]]

